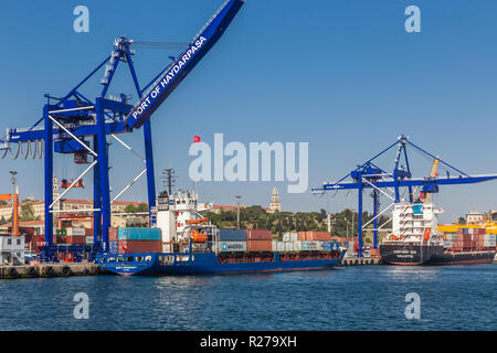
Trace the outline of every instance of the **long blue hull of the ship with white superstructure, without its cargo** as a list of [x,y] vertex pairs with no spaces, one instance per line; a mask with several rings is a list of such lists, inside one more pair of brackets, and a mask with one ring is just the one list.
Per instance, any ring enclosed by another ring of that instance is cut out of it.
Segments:
[[121,254],[98,255],[98,265],[110,272],[131,276],[208,275],[208,274],[254,274],[295,270],[329,269],[339,265],[346,250],[331,252],[327,259],[281,260],[279,253],[273,253],[271,261],[220,263],[213,253],[182,254]]

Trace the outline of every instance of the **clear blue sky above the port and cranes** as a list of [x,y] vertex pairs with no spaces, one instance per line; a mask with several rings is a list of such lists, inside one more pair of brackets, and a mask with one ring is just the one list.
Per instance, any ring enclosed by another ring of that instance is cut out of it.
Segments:
[[[188,42],[221,2],[2,1],[0,129],[31,126],[41,116],[43,94],[64,95],[108,55],[115,38]],[[78,4],[89,9],[89,33],[73,31]],[[404,31],[410,4],[421,9],[421,33]],[[468,173],[497,172],[495,13],[497,2],[485,0],[247,0],[221,41],[152,117],[158,184],[160,170],[171,165],[177,184],[191,188],[192,137],[212,142],[214,132],[246,146],[309,142],[309,188],[341,178],[400,133]],[[136,50],[142,85],[177,54]],[[134,94],[130,84],[121,68],[109,93]],[[95,97],[99,90],[92,82],[84,92]],[[124,139],[142,150],[141,131]],[[117,191],[141,165],[116,145],[110,156]],[[430,172],[430,161],[412,158],[420,160],[413,162],[415,175]],[[0,163],[2,192],[10,191],[8,171],[15,169],[21,197],[43,196],[42,161]],[[59,178],[81,171],[68,158],[57,157],[56,163]],[[393,154],[382,167],[392,164]],[[204,182],[195,190],[219,204],[233,204],[242,195],[244,204],[267,205],[274,186],[284,211],[357,207],[353,193],[287,194],[281,182]],[[146,200],[145,192],[144,180],[124,199]],[[442,188],[434,200],[445,210],[442,220],[453,221],[470,208],[497,208],[496,194],[497,182],[490,182]]]

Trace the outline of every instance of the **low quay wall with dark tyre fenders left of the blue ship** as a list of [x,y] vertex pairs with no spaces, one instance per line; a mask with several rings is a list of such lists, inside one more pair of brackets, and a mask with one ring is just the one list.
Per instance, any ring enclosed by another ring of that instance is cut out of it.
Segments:
[[91,263],[46,263],[0,266],[0,279],[96,276],[102,274],[104,274],[104,270],[98,265]]

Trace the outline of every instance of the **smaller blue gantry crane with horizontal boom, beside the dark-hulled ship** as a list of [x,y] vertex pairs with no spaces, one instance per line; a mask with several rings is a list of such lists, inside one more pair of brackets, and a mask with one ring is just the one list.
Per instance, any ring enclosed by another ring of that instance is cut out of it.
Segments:
[[[446,175],[430,175],[425,178],[412,178],[410,160],[408,158],[408,147],[420,152],[436,164],[444,165]],[[392,172],[385,171],[378,167],[377,160],[392,149],[395,149],[395,159]],[[403,163],[402,163],[403,161]],[[451,174],[451,172],[453,174]],[[325,182],[321,188],[311,189],[314,194],[324,194],[327,191],[357,190],[358,191],[358,256],[362,256],[362,232],[370,223],[373,224],[373,248],[378,248],[378,231],[382,225],[378,225],[380,216],[390,210],[395,203],[401,201],[401,191],[406,190],[409,201],[414,202],[414,188],[417,188],[423,195],[430,195],[438,192],[441,185],[459,185],[473,184],[497,179],[497,174],[488,175],[468,175],[459,169],[448,164],[438,157],[425,151],[423,148],[414,145],[404,135],[400,136],[396,141],[383,149],[381,152],[358,165],[349,174],[345,175],[337,182]],[[373,201],[372,218],[362,224],[363,211],[363,192],[372,190],[371,196]],[[380,196],[387,196],[391,200],[391,204],[380,211]]]

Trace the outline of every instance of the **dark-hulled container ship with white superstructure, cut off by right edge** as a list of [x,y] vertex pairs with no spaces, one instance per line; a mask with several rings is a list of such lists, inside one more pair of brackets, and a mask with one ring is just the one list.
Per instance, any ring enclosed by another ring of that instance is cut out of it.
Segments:
[[456,234],[437,231],[433,203],[398,203],[392,211],[392,234],[380,245],[380,256],[391,265],[490,264],[496,254],[496,235],[485,228],[459,228]]

